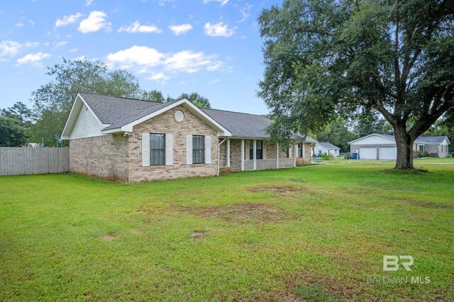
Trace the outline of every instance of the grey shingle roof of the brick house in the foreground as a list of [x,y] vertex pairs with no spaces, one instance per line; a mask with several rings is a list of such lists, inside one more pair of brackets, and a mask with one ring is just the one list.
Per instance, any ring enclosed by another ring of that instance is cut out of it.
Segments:
[[[138,99],[120,98],[117,96],[101,96],[98,94],[80,93],[82,99],[92,108],[92,111],[104,124],[110,124],[104,130],[120,128],[133,121],[148,116],[148,114],[165,108],[170,104],[157,103],[153,101],[143,101]],[[265,128],[272,123],[266,116],[258,114],[240,113],[233,111],[223,111],[211,108],[201,108],[206,114],[221,124],[232,133],[233,137],[238,138],[269,138]],[[298,133],[293,134],[293,138],[303,140],[304,137]],[[306,137],[308,142],[316,142],[313,138]]]

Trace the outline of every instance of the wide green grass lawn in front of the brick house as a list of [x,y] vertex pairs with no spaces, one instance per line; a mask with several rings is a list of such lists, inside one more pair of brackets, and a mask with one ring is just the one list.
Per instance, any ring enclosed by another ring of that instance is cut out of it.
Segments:
[[[0,177],[0,301],[453,301],[454,159],[393,164]],[[413,256],[412,271],[383,272],[383,255]]]

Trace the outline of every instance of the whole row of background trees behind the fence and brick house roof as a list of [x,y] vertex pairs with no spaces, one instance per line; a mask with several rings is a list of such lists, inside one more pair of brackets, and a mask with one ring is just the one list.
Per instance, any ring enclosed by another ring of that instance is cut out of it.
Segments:
[[46,74],[52,79],[32,92],[32,108],[18,101],[10,108],[0,109],[0,146],[41,142],[45,146],[55,145],[54,135],[62,133],[79,91],[160,103],[186,98],[196,106],[211,107],[209,99],[196,92],[165,98],[156,89],[142,89],[135,74],[126,69],[108,69],[101,61],[63,58],[60,64],[48,67]]

